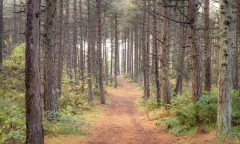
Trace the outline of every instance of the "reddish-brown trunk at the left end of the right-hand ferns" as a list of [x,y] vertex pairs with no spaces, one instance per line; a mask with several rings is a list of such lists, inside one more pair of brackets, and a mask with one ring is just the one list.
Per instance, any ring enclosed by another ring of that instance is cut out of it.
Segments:
[[161,49],[161,56],[160,56],[160,65],[161,65],[161,79],[162,79],[162,96],[164,100],[164,107],[167,108],[168,104],[171,102],[171,91],[170,85],[168,80],[168,56],[167,56],[167,49],[169,46],[167,45],[167,18],[168,17],[168,10],[167,10],[167,2],[164,1],[164,6],[162,7],[162,15],[163,23],[162,23],[162,49]]

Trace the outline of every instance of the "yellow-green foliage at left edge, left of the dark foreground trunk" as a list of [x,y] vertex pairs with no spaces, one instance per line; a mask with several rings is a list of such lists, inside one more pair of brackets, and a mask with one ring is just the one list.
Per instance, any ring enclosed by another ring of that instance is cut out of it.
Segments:
[[0,72],[0,143],[25,141],[25,44],[16,46]]

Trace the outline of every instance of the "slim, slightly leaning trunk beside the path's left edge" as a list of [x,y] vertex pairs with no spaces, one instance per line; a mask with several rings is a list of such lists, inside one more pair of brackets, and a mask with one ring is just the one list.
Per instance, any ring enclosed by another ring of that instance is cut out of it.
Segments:
[[101,103],[105,104],[103,79],[102,79],[102,38],[101,38],[101,0],[96,0],[97,3],[97,47],[98,47],[98,74],[99,74],[99,89]]

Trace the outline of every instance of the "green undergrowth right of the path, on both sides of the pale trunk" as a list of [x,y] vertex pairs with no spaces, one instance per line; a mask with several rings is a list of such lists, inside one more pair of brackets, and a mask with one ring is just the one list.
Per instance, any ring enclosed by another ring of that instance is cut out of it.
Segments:
[[[216,129],[217,122],[217,95],[216,93],[203,92],[196,103],[192,102],[191,94],[186,93],[172,100],[170,109],[174,117],[160,119],[156,125],[165,124],[169,133],[182,135],[188,133],[206,133]],[[240,97],[239,93],[232,93],[232,135],[239,137]]]

